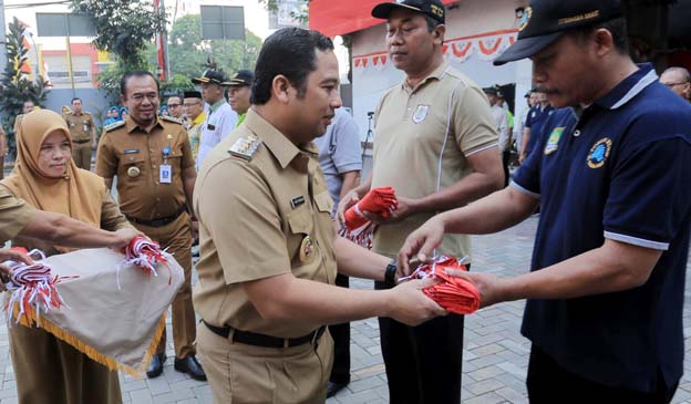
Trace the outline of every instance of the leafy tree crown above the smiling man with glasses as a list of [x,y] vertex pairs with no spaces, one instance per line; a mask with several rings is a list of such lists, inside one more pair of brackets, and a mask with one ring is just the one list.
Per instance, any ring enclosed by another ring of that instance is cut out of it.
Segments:
[[144,51],[166,24],[165,11],[149,1],[72,0],[72,10],[94,18],[94,45],[127,68],[145,68]]

